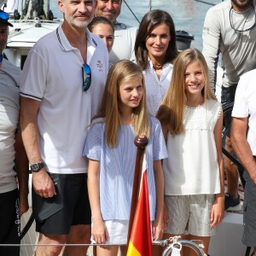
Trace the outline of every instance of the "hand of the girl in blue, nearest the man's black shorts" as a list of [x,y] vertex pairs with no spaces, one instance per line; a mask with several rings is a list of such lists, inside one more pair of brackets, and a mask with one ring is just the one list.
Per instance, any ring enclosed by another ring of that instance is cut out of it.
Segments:
[[93,219],[91,236],[96,243],[105,243],[108,240],[108,230],[102,218]]

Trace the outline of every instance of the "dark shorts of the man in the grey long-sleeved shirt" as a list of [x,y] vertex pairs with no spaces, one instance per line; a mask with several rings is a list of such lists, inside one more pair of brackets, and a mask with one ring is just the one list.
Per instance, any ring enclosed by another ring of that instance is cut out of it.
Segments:
[[[237,84],[234,84],[230,87],[224,87],[221,88],[221,103],[222,108],[224,109],[226,106],[229,106],[231,103],[235,102],[235,96],[236,96],[236,87]],[[223,125],[225,127],[225,135],[227,137],[230,137],[230,130],[231,130],[231,122],[232,122],[232,109],[224,112],[224,119],[223,119]]]

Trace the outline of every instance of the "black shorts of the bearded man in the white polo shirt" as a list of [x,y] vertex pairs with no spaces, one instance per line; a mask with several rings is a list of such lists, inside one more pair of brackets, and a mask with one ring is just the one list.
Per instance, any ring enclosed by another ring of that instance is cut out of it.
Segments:
[[91,224],[87,173],[49,173],[56,195],[44,198],[32,189],[32,209],[36,230],[42,234],[68,235],[70,227]]

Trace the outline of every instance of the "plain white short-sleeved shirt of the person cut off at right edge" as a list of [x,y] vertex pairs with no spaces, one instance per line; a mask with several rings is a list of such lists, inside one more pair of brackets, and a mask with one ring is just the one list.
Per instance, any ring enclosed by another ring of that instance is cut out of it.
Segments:
[[236,118],[248,117],[247,142],[256,155],[256,69],[243,74],[236,88],[236,97],[232,116]]

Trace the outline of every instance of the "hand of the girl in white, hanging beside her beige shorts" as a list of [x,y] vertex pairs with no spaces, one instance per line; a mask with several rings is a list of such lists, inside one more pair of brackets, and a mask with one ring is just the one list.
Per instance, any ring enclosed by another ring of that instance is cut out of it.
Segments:
[[212,211],[211,211],[211,227],[216,227],[224,218],[224,196],[218,196],[216,197],[216,200],[214,201],[212,205]]

